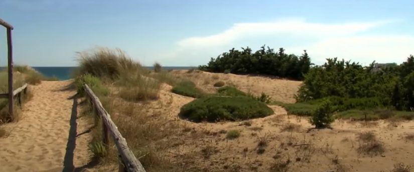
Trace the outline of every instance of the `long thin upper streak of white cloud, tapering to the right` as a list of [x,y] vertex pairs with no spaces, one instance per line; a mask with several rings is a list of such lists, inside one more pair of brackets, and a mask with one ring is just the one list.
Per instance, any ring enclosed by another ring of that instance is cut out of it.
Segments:
[[224,30],[223,32],[208,36],[185,38],[178,41],[177,44],[181,47],[220,46],[231,43],[236,39],[278,34],[327,38],[350,35],[389,22],[391,21],[323,24],[306,22],[304,19],[300,18],[290,18],[277,20],[275,22],[235,23],[231,28]]

